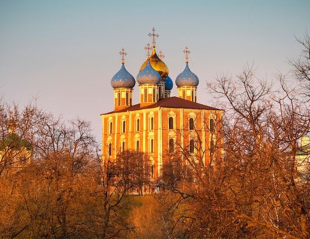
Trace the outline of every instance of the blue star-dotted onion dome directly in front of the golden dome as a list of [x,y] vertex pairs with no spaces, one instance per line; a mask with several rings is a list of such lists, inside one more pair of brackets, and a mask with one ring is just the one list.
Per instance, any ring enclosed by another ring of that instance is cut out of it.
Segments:
[[138,73],[137,75],[137,82],[140,85],[144,84],[152,84],[152,85],[157,85],[161,80],[161,76],[156,71],[151,63],[150,60],[148,60],[146,66]]

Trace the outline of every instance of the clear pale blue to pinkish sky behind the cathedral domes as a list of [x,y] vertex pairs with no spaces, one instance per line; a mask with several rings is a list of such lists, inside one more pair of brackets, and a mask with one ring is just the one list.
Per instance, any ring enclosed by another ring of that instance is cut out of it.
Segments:
[[[121,67],[135,77],[147,59],[155,28],[156,52],[175,78],[189,67],[200,80],[197,102],[212,106],[206,82],[233,76],[246,64],[272,81],[289,71],[310,31],[309,0],[0,0],[0,95],[20,107],[92,122],[101,142],[101,117],[114,110],[111,78]],[[133,104],[139,104],[139,86]],[[171,96],[177,96],[174,83]]]

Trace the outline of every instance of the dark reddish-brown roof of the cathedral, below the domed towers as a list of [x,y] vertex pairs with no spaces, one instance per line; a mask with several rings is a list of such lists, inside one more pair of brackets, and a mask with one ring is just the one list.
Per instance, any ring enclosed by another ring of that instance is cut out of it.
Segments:
[[109,113],[104,113],[102,115],[108,115],[112,113],[121,113],[121,112],[127,112],[127,111],[138,111],[138,110],[144,110],[144,109],[152,109],[156,107],[163,107],[163,108],[176,108],[176,109],[194,109],[194,110],[209,110],[209,111],[222,111],[220,109],[216,109],[210,106],[202,105],[196,102],[184,100],[179,97],[168,97],[159,100],[158,102],[148,105],[148,106],[141,106],[141,104],[137,104],[134,106],[127,107],[125,109],[119,110],[119,111],[112,111]]

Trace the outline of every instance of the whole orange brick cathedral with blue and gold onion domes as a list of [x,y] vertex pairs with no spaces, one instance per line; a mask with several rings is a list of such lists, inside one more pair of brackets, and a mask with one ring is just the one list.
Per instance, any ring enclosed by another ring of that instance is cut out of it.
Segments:
[[[156,181],[162,176],[169,157],[180,150],[188,152],[190,157],[203,152],[201,160],[204,165],[209,164],[210,154],[218,143],[215,132],[224,111],[196,102],[199,79],[188,66],[187,47],[185,69],[175,79],[178,96],[171,97],[173,81],[167,65],[155,52],[158,35],[154,28],[149,36],[153,38],[153,52],[150,54],[152,48],[145,48],[148,59],[142,63],[136,80],[125,68],[124,49],[120,52],[122,66],[111,79],[114,111],[101,115],[102,160],[113,160],[119,152],[128,149],[145,152],[151,159],[151,178]],[[132,105],[136,81],[140,102]]]

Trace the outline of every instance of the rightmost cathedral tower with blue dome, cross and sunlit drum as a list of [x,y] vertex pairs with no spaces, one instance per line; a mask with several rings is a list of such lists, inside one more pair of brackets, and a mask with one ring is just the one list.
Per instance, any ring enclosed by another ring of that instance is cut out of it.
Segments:
[[188,54],[191,52],[188,51],[186,47],[183,51],[186,55],[186,66],[183,72],[181,72],[175,80],[175,84],[178,87],[178,97],[184,100],[189,100],[192,102],[197,102],[197,86],[199,84],[199,79],[190,68],[188,67]]

